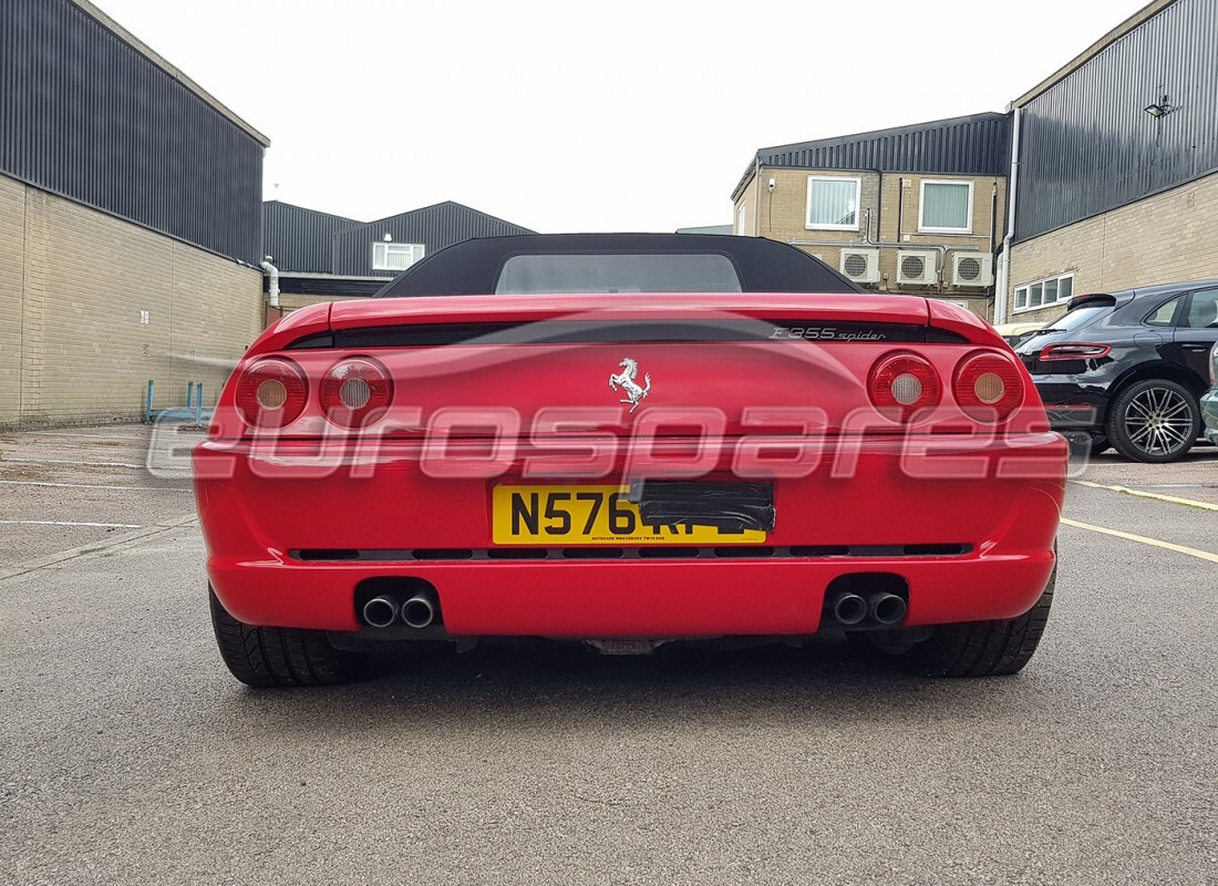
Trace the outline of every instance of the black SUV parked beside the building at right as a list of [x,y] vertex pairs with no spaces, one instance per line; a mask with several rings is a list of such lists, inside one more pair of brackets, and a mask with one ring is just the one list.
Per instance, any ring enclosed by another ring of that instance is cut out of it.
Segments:
[[1183,458],[1201,434],[1218,280],[1079,295],[1022,342],[1055,430],[1139,462]]

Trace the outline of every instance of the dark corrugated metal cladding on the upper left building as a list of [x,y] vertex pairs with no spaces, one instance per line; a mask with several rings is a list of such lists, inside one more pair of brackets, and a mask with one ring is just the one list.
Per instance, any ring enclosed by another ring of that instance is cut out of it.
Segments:
[[0,0],[0,172],[259,257],[263,146],[68,0]]

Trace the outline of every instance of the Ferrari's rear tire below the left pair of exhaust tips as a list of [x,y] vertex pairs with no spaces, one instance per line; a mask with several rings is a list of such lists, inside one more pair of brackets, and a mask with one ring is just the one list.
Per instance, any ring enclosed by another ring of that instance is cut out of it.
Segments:
[[335,686],[357,675],[359,658],[330,646],[325,631],[253,628],[233,618],[207,587],[220,658],[247,686]]

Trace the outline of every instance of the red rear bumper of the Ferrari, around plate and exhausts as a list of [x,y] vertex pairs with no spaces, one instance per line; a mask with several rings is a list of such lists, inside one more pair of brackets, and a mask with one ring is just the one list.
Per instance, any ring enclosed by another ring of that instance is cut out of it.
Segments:
[[[671,637],[815,633],[826,587],[856,573],[904,579],[906,625],[1013,618],[1054,567],[1066,445],[1050,433],[864,439],[845,467],[837,458],[775,481],[769,556],[659,561],[301,559],[302,550],[495,550],[491,489],[518,479],[525,459],[503,477],[475,479],[426,475],[414,441],[381,445],[375,456],[341,447],[312,475],[284,470],[284,461],[283,446],[274,458],[247,442],[195,451],[208,574],[242,622],[361,630],[356,586],[386,576],[431,583],[452,635]],[[966,552],[900,551],[927,545]],[[862,555],[808,553],[834,546]]]

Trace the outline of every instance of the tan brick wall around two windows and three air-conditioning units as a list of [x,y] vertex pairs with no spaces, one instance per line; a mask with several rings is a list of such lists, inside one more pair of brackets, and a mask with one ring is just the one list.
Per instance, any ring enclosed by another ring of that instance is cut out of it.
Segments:
[[[809,175],[833,175],[860,179],[859,189],[859,229],[857,230],[810,230],[808,218],[808,178]],[[773,191],[769,188],[773,179]],[[918,204],[922,194],[922,180],[972,182],[973,213],[972,229],[967,234],[943,234],[918,232]],[[756,186],[760,182],[760,188]],[[996,210],[994,204],[996,202]],[[944,284],[939,286],[899,286],[896,284],[898,246],[881,247],[879,273],[882,282],[868,286],[876,291],[910,292],[916,295],[938,295],[952,301],[961,301],[976,313],[989,318],[993,316],[993,286],[957,288],[951,285],[951,250],[977,250],[989,252],[1005,235],[1006,222],[1006,179],[1004,177],[984,175],[915,175],[909,173],[842,172],[834,169],[789,169],[762,167],[756,180],[750,179],[741,191],[734,211],[745,206],[748,216],[747,229],[756,230],[758,235],[771,240],[789,243],[792,240],[816,241],[803,249],[817,255],[827,264],[840,268],[843,245],[861,245],[867,234],[867,211],[871,211],[871,239],[885,244],[899,244],[906,249],[928,249],[944,246],[946,267],[943,268]],[[733,218],[736,216],[733,214]],[[756,227],[754,228],[754,219]],[[996,222],[990,236],[991,219]],[[826,245],[827,244],[827,245]],[[944,256],[937,263],[944,262]]]

